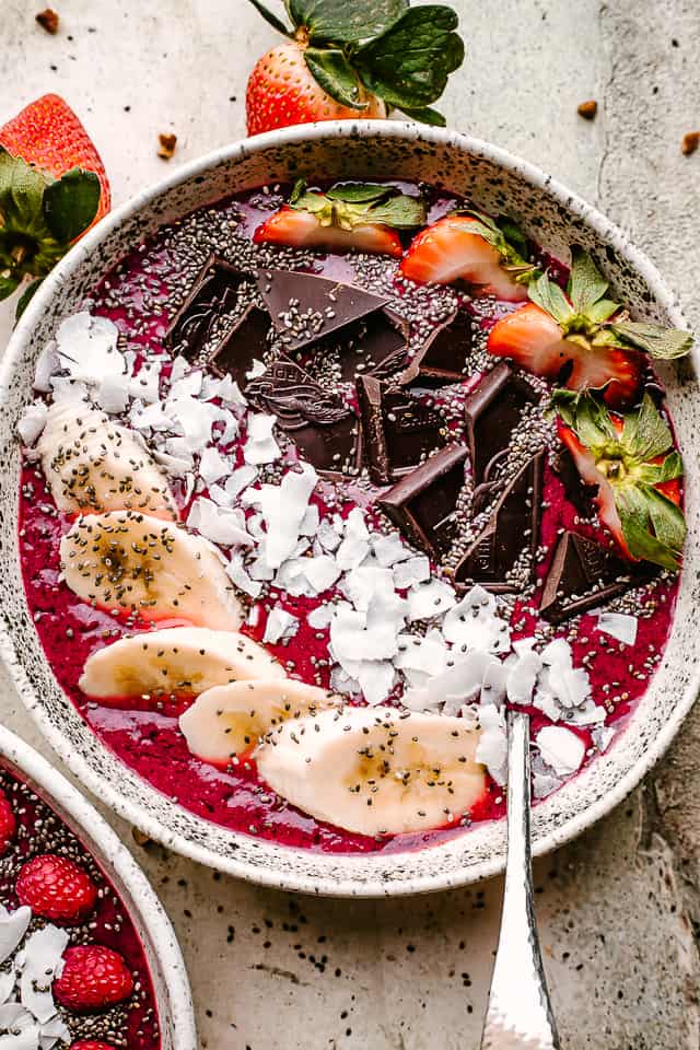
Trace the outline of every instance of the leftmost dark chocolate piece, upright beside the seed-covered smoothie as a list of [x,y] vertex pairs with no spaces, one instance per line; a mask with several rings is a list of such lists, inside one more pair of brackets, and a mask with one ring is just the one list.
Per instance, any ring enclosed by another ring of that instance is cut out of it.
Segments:
[[165,345],[190,360],[197,358],[215,318],[235,305],[238,287],[246,278],[252,279],[252,275],[217,255],[210,256],[165,332]]

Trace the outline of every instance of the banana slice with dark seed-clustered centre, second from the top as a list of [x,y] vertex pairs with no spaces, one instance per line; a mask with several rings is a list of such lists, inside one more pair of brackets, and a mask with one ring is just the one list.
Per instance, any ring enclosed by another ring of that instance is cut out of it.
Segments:
[[132,511],[86,514],[62,537],[60,555],[71,591],[101,608],[222,631],[243,622],[217,549],[182,526]]

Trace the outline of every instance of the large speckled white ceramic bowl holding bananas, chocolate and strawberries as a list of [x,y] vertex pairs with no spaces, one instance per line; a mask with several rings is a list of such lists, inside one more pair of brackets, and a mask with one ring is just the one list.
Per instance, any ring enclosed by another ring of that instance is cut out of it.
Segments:
[[[638,318],[684,326],[679,306],[651,262],[599,212],[503,150],[452,131],[399,122],[320,124],[270,132],[187,164],[135,197],[57,266],[18,326],[0,390],[0,509],[3,630],[0,646],[22,699],[56,750],[93,792],[173,850],[267,885],[339,896],[412,894],[472,882],[503,867],[504,828],[477,826],[430,849],[369,856],[314,854],[233,833],[180,808],[122,766],[63,696],[48,667],[22,590],[16,542],[20,447],[15,424],[32,397],[34,363],[60,320],[101,275],[161,223],[226,194],[312,177],[400,176],[442,183],[491,212],[508,212],[540,244],[567,258],[591,248]],[[697,446],[695,366],[663,370],[681,448]],[[697,693],[698,458],[686,455],[689,536],[678,610],[665,657],[626,732],[581,775],[538,805],[534,844],[544,853],[620,802],[658,759]]]

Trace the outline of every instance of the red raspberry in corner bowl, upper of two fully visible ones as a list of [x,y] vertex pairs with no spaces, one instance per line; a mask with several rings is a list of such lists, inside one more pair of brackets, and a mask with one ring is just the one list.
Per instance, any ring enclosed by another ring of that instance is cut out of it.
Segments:
[[15,886],[23,905],[45,919],[72,922],[95,907],[97,887],[90,875],[66,856],[45,853],[22,867]]

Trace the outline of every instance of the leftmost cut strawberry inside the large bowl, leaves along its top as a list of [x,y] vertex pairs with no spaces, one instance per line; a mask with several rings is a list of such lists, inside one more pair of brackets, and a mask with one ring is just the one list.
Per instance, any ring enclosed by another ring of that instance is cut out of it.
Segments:
[[325,191],[308,190],[300,179],[289,200],[258,226],[256,244],[347,252],[355,248],[398,258],[404,248],[398,231],[425,221],[425,205],[394,186],[337,183]]

